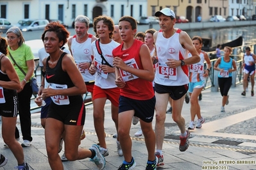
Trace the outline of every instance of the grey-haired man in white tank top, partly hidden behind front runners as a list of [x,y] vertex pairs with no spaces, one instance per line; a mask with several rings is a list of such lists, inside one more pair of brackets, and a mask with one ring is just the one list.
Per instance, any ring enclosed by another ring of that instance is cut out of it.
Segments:
[[69,45],[69,50],[83,76],[87,91],[92,93],[95,76],[89,73],[89,68],[93,60],[90,45],[94,40],[97,40],[97,38],[89,34],[88,30],[89,18],[85,15],[78,15],[74,20],[74,31],[76,31],[76,35],[69,38],[67,45]]

